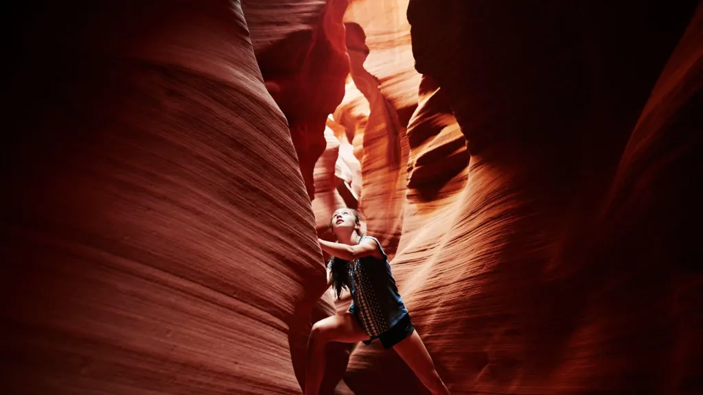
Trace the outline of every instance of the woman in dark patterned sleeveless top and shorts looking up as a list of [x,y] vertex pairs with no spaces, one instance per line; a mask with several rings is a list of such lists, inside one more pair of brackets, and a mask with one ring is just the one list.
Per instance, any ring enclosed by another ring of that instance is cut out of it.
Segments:
[[359,215],[353,209],[338,209],[330,227],[337,242],[319,240],[322,250],[333,256],[328,264],[328,287],[334,286],[337,300],[342,287],[347,288],[354,302],[346,313],[313,325],[307,350],[305,395],[318,394],[328,342],[370,344],[373,339],[380,339],[385,349],[394,349],[432,394],[449,394],[413,328],[378,240],[361,235]]

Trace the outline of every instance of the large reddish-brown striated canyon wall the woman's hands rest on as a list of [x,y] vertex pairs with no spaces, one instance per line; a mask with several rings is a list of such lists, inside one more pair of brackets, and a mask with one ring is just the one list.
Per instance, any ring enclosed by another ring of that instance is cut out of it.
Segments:
[[6,391],[299,394],[324,271],[238,1],[13,15]]

